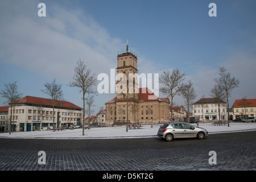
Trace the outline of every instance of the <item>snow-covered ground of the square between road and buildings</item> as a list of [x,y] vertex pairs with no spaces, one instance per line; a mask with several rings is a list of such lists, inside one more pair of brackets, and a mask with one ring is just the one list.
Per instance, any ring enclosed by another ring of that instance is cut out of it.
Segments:
[[[197,126],[196,124],[193,124]],[[126,126],[115,127],[92,127],[85,129],[63,131],[27,131],[14,133],[0,133],[0,138],[46,138],[46,139],[92,139],[92,138],[133,138],[133,137],[156,137],[160,125],[142,125],[141,129],[129,129]],[[214,126],[212,123],[200,123],[199,127],[207,129],[209,134],[220,132],[236,132],[256,130],[256,123],[230,123],[230,126]]]

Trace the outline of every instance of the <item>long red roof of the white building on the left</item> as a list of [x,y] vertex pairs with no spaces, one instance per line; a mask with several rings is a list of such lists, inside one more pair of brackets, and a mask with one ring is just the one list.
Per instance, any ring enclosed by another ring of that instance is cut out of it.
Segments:
[[[34,105],[45,105],[45,106],[52,106],[52,100],[48,98],[40,98],[40,97],[32,97],[32,96],[26,96],[23,98],[20,98],[18,101],[15,102],[15,104],[34,104]],[[81,107],[72,104],[71,102],[67,101],[54,101],[53,105],[55,107],[66,107],[66,108],[72,108],[72,109],[82,109]]]

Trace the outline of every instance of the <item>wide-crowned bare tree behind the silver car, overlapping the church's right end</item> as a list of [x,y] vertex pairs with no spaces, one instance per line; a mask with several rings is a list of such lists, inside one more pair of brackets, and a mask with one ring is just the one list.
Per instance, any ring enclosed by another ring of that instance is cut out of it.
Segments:
[[159,82],[163,85],[160,88],[160,92],[171,97],[171,117],[174,97],[176,95],[180,96],[181,91],[184,88],[184,80],[185,73],[181,73],[179,69],[174,69],[172,73],[169,71],[164,71],[163,75],[160,76]]

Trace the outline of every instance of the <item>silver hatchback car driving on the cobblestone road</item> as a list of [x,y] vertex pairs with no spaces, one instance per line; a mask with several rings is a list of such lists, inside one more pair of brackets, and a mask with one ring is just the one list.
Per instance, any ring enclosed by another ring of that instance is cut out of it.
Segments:
[[158,137],[171,141],[174,138],[208,137],[208,131],[185,122],[164,123],[158,130]]

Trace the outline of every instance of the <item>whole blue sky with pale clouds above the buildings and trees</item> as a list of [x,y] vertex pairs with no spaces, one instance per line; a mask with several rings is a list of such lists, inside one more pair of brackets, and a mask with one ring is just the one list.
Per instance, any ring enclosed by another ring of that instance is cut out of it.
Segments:
[[[46,17],[38,4],[46,4]],[[209,3],[217,16],[210,17]],[[40,90],[56,78],[66,100],[82,107],[81,94],[67,86],[76,61],[98,75],[117,67],[117,52],[137,53],[139,73],[175,68],[197,93],[210,97],[224,66],[240,80],[236,99],[255,97],[256,2],[246,1],[0,1],[0,89],[18,81],[23,96],[48,98]],[[115,94],[98,94],[94,114]],[[160,97],[166,97],[160,94]],[[195,100],[195,101],[196,101]],[[0,105],[5,100],[0,98]],[[175,97],[178,105],[183,98]]]

